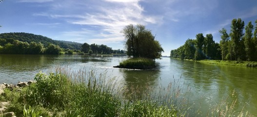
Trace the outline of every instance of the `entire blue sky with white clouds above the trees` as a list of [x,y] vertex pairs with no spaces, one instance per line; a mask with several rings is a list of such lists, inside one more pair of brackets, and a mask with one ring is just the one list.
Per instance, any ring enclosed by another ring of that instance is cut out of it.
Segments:
[[[169,56],[198,33],[230,33],[232,19],[257,20],[257,0],[4,0],[0,33],[26,32],[55,40],[105,44],[124,49],[128,24],[152,30]],[[254,24],[255,25],[255,24]]]

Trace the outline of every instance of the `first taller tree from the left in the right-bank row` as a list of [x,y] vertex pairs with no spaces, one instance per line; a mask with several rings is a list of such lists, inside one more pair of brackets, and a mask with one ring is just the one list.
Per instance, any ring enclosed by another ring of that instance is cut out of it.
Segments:
[[196,35],[196,52],[195,52],[195,60],[204,59],[203,56],[203,44],[204,44],[204,37],[202,33]]

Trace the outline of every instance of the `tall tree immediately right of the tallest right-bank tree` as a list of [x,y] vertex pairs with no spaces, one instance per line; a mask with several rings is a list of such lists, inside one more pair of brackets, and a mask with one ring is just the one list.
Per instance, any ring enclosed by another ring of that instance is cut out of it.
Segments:
[[245,46],[245,53],[246,53],[246,58],[249,61],[254,60],[254,41],[253,41],[253,29],[254,26],[252,25],[252,22],[250,21],[246,26],[245,26],[245,35],[244,35],[244,46]]

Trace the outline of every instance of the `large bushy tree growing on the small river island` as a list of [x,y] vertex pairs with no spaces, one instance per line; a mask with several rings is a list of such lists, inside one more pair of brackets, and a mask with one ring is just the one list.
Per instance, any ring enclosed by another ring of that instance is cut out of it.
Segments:
[[121,32],[126,39],[125,48],[128,56],[160,59],[161,52],[164,51],[159,42],[155,40],[155,36],[144,25],[129,24]]

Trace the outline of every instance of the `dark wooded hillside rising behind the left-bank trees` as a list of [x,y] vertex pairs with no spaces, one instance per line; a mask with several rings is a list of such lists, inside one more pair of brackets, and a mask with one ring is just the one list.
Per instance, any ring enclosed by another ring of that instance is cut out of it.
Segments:
[[80,50],[81,49],[81,43],[77,42],[71,42],[71,41],[63,41],[63,40],[53,40],[41,35],[35,35],[30,33],[2,33],[0,34],[0,39],[15,39],[20,40],[23,42],[41,42],[44,46],[47,46],[49,43],[59,45],[61,48],[69,48],[69,49],[75,49]]

